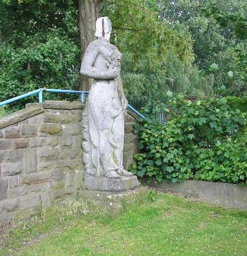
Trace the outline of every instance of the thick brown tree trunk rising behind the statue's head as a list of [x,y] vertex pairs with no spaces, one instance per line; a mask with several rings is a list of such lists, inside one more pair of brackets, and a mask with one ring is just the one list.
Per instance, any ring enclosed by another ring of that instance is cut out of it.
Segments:
[[[100,17],[101,0],[78,0],[79,2],[79,28],[80,28],[80,56],[83,60],[85,51],[95,40],[95,25]],[[80,75],[80,90],[89,91],[92,84],[91,78]]]

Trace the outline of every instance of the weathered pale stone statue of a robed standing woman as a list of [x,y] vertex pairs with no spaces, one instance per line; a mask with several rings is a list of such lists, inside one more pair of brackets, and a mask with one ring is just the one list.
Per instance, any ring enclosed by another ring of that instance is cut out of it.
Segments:
[[[105,178],[108,185],[110,179],[134,179],[123,169],[124,111],[128,103],[120,78],[122,54],[109,42],[110,35],[108,17],[97,19],[95,36],[98,39],[89,44],[80,69],[81,74],[94,78],[83,114],[86,186],[92,190],[101,186],[91,186],[95,177],[97,183],[101,182],[99,177]],[[137,186],[138,181],[134,183]]]

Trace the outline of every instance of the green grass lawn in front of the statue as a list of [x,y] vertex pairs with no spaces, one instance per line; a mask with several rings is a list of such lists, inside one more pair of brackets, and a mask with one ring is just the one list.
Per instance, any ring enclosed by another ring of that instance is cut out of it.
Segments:
[[247,212],[191,199],[152,191],[117,216],[63,215],[21,223],[0,255],[247,255]]

